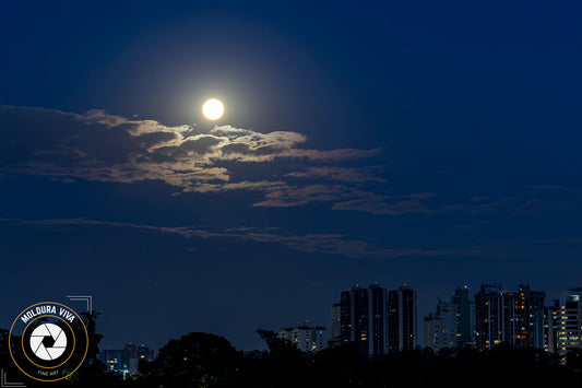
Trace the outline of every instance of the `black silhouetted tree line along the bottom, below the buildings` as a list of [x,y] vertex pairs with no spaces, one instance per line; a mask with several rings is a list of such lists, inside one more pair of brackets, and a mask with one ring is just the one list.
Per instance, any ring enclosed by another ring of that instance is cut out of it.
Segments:
[[[90,333],[90,351],[83,366],[66,380],[28,387],[515,387],[582,386],[582,352],[566,358],[541,350],[500,344],[488,352],[474,348],[430,348],[369,358],[356,344],[342,344],[310,355],[273,331],[258,330],[264,351],[239,351],[223,337],[191,332],[168,341],[152,362],[140,361],[139,373],[123,379],[106,371],[97,360],[102,336],[95,331],[97,314],[83,316]],[[0,364],[10,376],[8,331],[0,330]]]

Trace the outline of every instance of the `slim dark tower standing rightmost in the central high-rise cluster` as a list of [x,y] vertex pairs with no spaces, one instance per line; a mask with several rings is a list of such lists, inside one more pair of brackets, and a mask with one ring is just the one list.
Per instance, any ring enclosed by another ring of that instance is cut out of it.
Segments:
[[388,352],[409,351],[417,344],[416,291],[402,285],[388,294]]

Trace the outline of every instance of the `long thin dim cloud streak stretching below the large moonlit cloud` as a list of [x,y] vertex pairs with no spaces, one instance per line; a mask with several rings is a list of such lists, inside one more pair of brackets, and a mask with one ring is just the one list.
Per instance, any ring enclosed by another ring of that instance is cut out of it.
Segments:
[[[563,260],[578,259],[582,255],[582,237],[533,240],[474,240],[449,247],[390,247],[379,246],[363,238],[337,233],[287,234],[277,227],[230,227],[205,230],[194,226],[159,226],[126,222],[99,221],[87,219],[23,220],[0,219],[0,224],[27,227],[46,227],[61,232],[80,227],[132,228],[181,236],[187,240],[197,238],[233,238],[256,243],[276,244],[287,248],[325,255],[340,255],[351,258],[403,259],[403,258],[458,258],[461,260],[479,259],[528,259]],[[191,245],[185,244],[186,250]]]

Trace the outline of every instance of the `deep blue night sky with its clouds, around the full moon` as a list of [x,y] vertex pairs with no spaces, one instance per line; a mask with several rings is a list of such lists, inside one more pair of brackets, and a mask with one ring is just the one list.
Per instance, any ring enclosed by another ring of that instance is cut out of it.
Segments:
[[250,350],[329,326],[355,284],[416,289],[419,331],[463,284],[580,285],[581,15],[4,4],[0,328],[90,294],[102,349],[206,331]]

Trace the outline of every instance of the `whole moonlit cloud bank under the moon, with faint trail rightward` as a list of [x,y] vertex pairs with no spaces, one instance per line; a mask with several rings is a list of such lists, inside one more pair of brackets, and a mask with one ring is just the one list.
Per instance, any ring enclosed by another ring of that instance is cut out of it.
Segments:
[[[379,175],[385,166],[349,165],[380,149],[300,148],[307,137],[299,132],[263,133],[226,125],[200,129],[99,109],[80,115],[5,105],[0,105],[0,177],[26,174],[68,184],[162,181],[175,188],[176,196],[245,190],[257,195],[248,203],[257,208],[325,204],[336,211],[388,216],[454,212],[519,216],[573,209],[567,198],[473,196],[465,202],[442,203],[431,191],[396,193]],[[579,192],[551,185],[530,188],[541,196]]]

